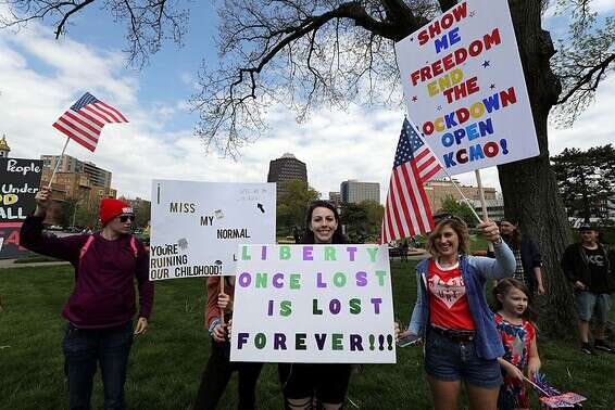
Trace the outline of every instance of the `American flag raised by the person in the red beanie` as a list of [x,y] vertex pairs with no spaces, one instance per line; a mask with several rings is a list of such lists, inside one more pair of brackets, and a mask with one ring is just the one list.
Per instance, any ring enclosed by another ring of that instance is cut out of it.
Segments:
[[53,128],[93,152],[100,131],[108,123],[128,123],[128,119],[120,111],[86,92],[53,123]]

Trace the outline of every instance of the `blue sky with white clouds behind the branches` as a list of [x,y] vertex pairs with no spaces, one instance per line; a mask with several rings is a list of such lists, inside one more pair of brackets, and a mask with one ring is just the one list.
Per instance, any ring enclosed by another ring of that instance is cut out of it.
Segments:
[[[204,3],[193,3],[185,46],[165,44],[140,72],[126,67],[124,28],[96,9],[80,15],[60,40],[54,40],[52,27],[40,23],[17,33],[0,30],[0,133],[8,137],[11,156],[59,154],[64,137],[51,124],[87,90],[121,108],[130,123],[106,126],[95,154],[76,143],[70,143],[66,153],[111,170],[112,185],[125,196],[149,197],[154,178],[266,181],[268,162],[290,152],[308,164],[310,183],[323,196],[339,191],[346,179],[359,179],[379,182],[384,201],[401,110],[323,110],[301,125],[292,113],[279,110],[271,115],[272,132],[246,148],[238,162],[204,155],[192,134],[197,116],[186,103],[194,91],[201,59],[216,59],[215,13]],[[597,5],[601,14],[615,11],[611,0],[599,0]],[[561,33],[561,22],[550,17],[548,28]],[[601,86],[597,101],[574,127],[552,127],[552,154],[567,146],[614,142],[613,76]],[[494,168],[481,175],[485,185],[500,189]],[[473,184],[474,174],[459,179]]]

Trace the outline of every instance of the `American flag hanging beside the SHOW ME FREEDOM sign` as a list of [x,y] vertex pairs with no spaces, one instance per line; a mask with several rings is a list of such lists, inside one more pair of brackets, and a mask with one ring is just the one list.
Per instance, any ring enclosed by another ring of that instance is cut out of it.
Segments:
[[389,182],[380,243],[427,233],[434,229],[423,182],[440,169],[431,150],[418,137],[407,118],[404,119]]

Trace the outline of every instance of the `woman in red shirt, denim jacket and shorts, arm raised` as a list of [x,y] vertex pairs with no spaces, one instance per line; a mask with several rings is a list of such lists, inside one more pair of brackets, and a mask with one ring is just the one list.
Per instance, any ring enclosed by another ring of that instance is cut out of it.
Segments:
[[498,226],[478,228],[493,244],[495,259],[469,256],[465,223],[449,218],[427,241],[431,257],[416,267],[417,298],[404,334],[425,335],[425,371],[436,410],[456,409],[462,381],[473,409],[495,409],[504,354],[485,298],[488,279],[513,274],[515,256]]

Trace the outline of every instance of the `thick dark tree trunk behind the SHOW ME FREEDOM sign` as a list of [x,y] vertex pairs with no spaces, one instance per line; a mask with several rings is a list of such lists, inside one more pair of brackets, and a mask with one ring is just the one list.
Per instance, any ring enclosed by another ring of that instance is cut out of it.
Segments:
[[540,329],[552,336],[570,335],[576,328],[572,287],[560,260],[572,242],[564,203],[551,170],[547,144],[549,111],[561,85],[551,71],[554,54],[548,31],[540,26],[540,0],[510,0],[511,14],[524,66],[540,155],[499,166],[506,215],[518,218],[524,232],[539,244],[543,258],[547,300],[540,311]]

